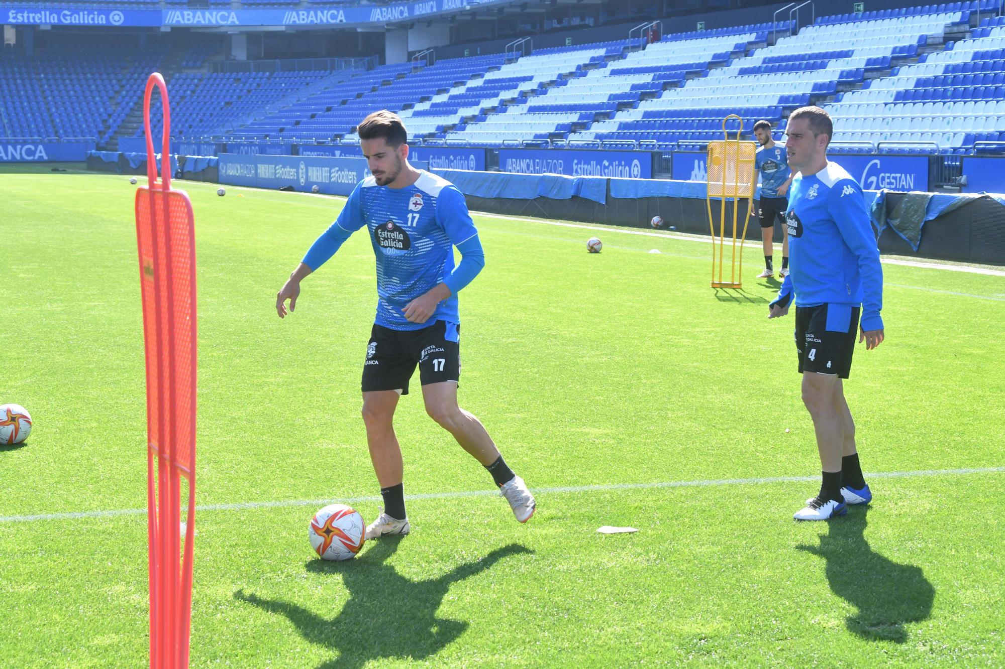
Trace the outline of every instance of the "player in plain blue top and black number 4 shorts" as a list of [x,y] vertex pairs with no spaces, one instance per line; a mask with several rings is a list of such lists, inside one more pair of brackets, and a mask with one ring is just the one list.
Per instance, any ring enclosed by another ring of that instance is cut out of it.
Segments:
[[859,343],[865,342],[866,351],[882,343],[882,267],[861,187],[827,162],[832,133],[830,117],[820,107],[804,106],[789,117],[785,148],[799,173],[786,212],[792,273],[768,315],[788,313],[795,293],[803,403],[813,418],[823,470],[820,493],[806,500],[796,520],[826,520],[847,513],[847,504],[872,499],[841,380],[851,370],[859,310]]

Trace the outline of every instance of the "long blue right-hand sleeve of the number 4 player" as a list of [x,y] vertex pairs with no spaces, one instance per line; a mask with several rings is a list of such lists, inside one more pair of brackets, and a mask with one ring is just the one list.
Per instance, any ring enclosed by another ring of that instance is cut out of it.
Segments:
[[882,265],[861,187],[851,179],[834,184],[827,210],[837,223],[844,243],[858,258],[862,281],[862,329],[882,329],[882,316],[879,315],[882,310]]

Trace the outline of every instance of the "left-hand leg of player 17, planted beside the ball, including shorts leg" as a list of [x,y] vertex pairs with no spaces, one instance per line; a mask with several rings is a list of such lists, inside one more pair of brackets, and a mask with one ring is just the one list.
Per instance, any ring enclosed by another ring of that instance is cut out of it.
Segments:
[[363,423],[384,511],[367,526],[368,539],[407,534],[410,530],[405,511],[401,446],[394,433],[394,411],[399,397],[408,394],[408,380],[414,371],[415,361],[402,350],[399,333],[374,325],[363,367]]

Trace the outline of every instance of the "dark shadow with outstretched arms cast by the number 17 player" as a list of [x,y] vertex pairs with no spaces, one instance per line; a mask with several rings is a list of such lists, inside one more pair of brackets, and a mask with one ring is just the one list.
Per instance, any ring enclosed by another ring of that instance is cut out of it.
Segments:
[[337,659],[318,669],[362,667],[379,658],[423,659],[453,643],[468,623],[437,618],[450,586],[491,568],[509,555],[533,552],[518,543],[495,548],[482,560],[464,563],[438,579],[409,581],[385,561],[402,536],[385,536],[354,560],[312,560],[308,572],[341,575],[350,599],[332,619],[279,600],[266,600],[243,590],[234,598],[269,613],[282,614],[308,641],[339,651]]

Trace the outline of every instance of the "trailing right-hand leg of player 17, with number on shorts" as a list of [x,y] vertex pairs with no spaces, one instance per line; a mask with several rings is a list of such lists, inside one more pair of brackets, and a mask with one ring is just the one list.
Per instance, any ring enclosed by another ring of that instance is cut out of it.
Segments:
[[424,337],[419,343],[419,376],[426,413],[488,470],[502,496],[510,502],[517,519],[527,522],[534,515],[534,496],[524,479],[507,465],[481,421],[461,409],[457,403],[457,385],[460,379],[459,326],[439,321],[422,331]]

